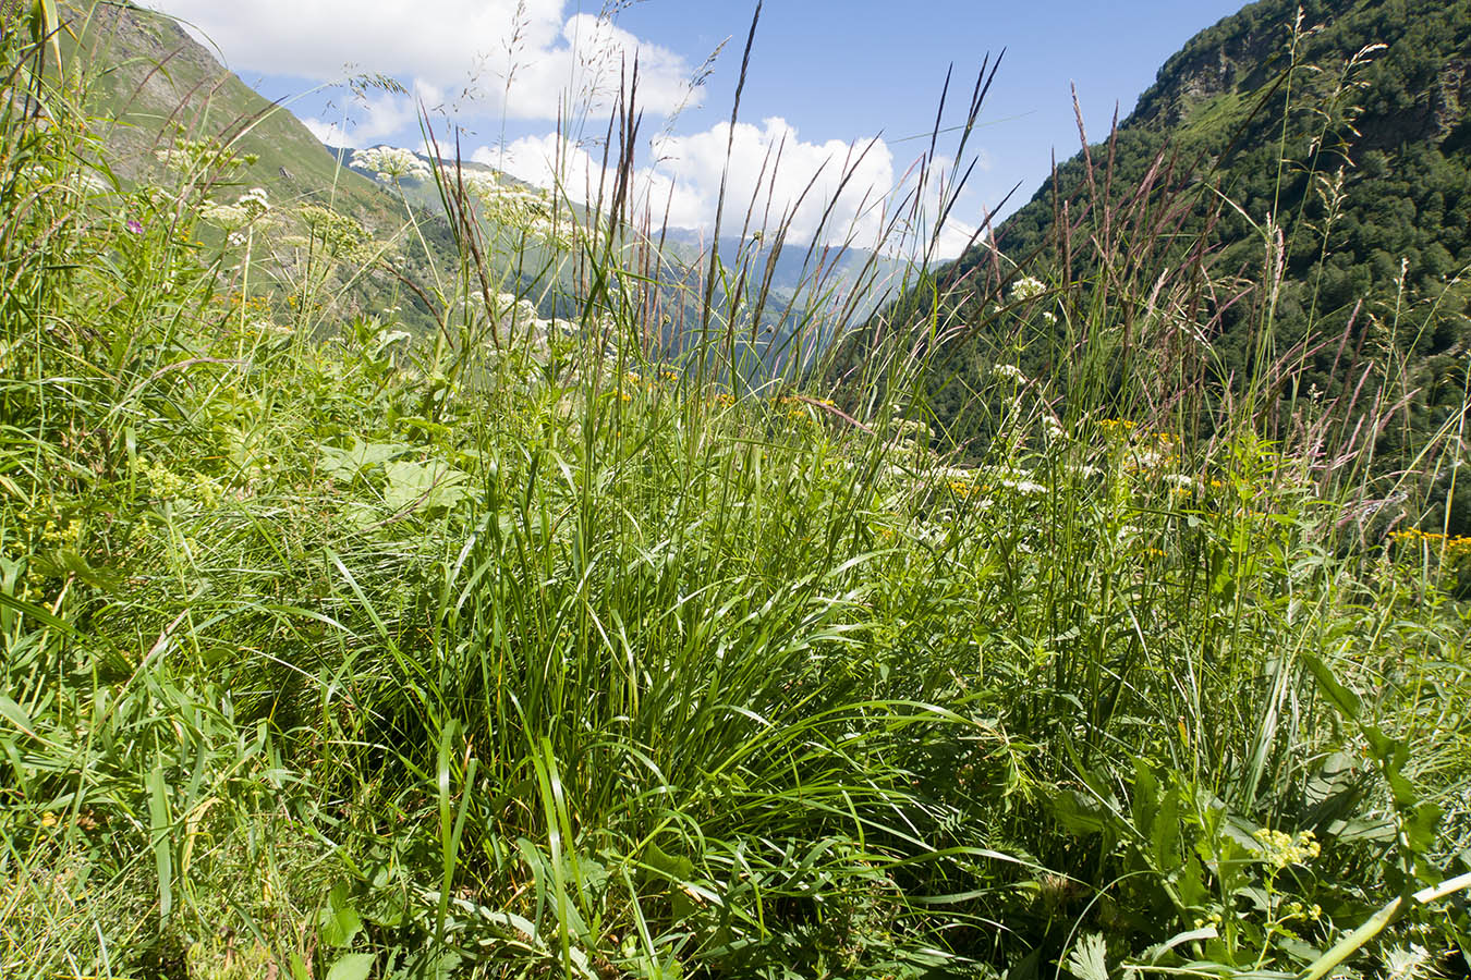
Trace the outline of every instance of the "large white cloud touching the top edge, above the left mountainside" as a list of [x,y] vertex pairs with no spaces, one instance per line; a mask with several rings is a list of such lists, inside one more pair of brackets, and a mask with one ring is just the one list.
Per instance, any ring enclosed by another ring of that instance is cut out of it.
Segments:
[[[606,113],[638,60],[638,101],[691,101],[691,68],[566,0],[152,0],[216,44],[237,71],[334,81],[384,73],[512,119]],[[412,116],[413,103],[396,97]]]

